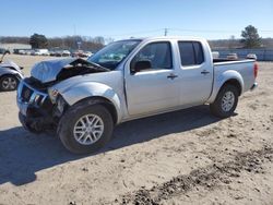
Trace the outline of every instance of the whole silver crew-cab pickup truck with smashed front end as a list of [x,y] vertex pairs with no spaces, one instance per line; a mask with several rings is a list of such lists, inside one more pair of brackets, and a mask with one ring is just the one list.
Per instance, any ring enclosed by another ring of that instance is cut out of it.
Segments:
[[213,60],[201,38],[119,40],[87,60],[35,64],[19,85],[19,117],[31,132],[54,130],[69,150],[92,153],[128,120],[204,104],[227,118],[257,73],[253,60]]

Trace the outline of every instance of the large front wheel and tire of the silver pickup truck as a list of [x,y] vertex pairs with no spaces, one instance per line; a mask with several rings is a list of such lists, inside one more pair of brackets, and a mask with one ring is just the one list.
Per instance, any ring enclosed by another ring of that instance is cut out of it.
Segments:
[[[93,125],[86,125],[92,124],[93,120]],[[90,154],[97,152],[110,140],[112,129],[112,117],[108,109],[85,100],[69,108],[59,122],[57,133],[68,150]]]

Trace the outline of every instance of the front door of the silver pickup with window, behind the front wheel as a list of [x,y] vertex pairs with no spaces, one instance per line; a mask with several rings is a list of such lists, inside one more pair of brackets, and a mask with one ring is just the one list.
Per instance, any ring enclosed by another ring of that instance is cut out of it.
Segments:
[[130,116],[153,113],[179,105],[177,70],[173,62],[170,41],[150,43],[133,57],[136,61],[149,60],[152,68],[126,74],[126,94]]

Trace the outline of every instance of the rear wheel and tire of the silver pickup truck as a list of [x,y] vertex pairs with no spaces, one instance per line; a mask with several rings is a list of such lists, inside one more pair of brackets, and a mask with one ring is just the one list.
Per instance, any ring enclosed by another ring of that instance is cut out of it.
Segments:
[[238,104],[239,91],[234,85],[221,88],[215,101],[210,105],[211,112],[219,118],[233,116]]

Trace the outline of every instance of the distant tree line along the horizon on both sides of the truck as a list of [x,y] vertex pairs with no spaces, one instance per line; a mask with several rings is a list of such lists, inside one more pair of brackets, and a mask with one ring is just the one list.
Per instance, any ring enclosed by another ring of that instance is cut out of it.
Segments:
[[[104,45],[114,41],[112,38],[102,36],[66,36],[47,38],[43,34],[34,34],[31,37],[0,37],[0,43],[31,44],[32,48],[59,48],[59,49],[82,49],[98,50]],[[241,31],[241,38],[236,39],[230,36],[229,39],[209,40],[213,49],[218,48],[273,48],[273,38],[261,38],[258,29],[249,25]]]

